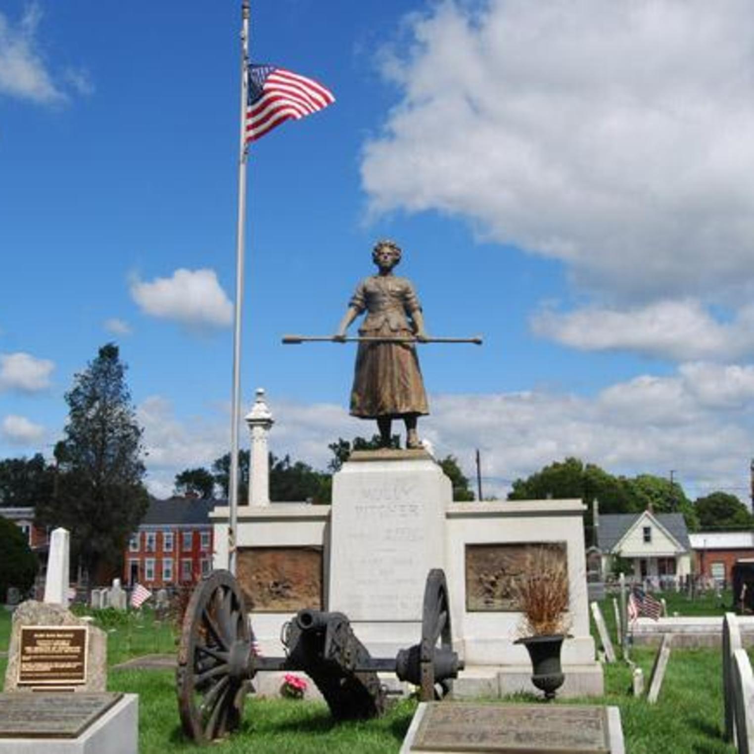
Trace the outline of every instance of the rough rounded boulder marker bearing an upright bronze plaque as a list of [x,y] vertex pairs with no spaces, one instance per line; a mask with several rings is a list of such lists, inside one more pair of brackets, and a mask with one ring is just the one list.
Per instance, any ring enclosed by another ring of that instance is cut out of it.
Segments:
[[66,608],[30,599],[14,612],[5,691],[105,691],[107,636]]

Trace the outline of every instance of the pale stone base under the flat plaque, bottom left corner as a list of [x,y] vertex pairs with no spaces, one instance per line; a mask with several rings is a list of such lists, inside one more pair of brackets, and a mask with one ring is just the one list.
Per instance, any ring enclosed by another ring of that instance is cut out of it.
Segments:
[[[33,700],[38,694],[0,694],[0,698],[23,697]],[[60,696],[60,694],[58,695]],[[73,700],[75,701],[75,700]],[[14,737],[11,731],[12,720],[3,720],[3,730],[0,732],[0,754],[138,754],[139,752],[139,695],[123,694],[103,713],[84,728],[75,738],[62,738],[57,734],[40,737],[39,733],[29,731],[28,736]],[[44,717],[44,716],[42,716]],[[35,722],[41,726],[43,719],[27,720],[24,728],[33,727]],[[51,727],[51,726],[48,726]],[[47,731],[41,731],[42,734]],[[33,736],[33,737],[32,737]]]

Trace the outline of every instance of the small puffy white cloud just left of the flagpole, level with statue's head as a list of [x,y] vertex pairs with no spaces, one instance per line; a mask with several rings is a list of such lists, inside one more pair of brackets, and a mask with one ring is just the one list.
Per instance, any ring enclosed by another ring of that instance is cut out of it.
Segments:
[[130,291],[146,314],[189,327],[225,327],[233,317],[233,305],[214,270],[178,269],[172,277],[133,280]]

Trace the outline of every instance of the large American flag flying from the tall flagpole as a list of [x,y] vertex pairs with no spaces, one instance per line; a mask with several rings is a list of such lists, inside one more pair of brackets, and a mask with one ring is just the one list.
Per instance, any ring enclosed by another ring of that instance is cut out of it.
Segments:
[[275,66],[247,66],[246,142],[289,118],[304,118],[333,104],[333,93],[311,78]]

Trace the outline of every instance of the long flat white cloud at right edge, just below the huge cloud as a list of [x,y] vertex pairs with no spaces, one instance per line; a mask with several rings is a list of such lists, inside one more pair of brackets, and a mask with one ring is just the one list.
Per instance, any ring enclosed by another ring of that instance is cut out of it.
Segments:
[[582,351],[635,351],[679,361],[754,355],[754,307],[750,305],[724,323],[696,299],[624,309],[592,306],[567,314],[544,309],[532,317],[532,329]]

